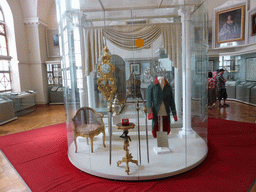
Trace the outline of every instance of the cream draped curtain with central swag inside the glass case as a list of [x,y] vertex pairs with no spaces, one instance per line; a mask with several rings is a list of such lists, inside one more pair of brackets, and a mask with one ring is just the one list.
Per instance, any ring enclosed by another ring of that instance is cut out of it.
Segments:
[[[98,58],[104,47],[103,37],[114,45],[129,51],[150,46],[160,35],[163,38],[165,52],[174,67],[180,68],[181,62],[181,24],[146,24],[108,26],[84,29],[86,74],[95,70]],[[144,40],[144,46],[135,45],[137,39]]]

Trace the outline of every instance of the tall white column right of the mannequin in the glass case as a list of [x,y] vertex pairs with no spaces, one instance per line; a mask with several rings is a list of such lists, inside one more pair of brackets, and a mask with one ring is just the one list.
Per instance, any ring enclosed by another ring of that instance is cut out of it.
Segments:
[[196,137],[191,128],[191,60],[190,60],[190,16],[192,6],[179,10],[182,23],[182,86],[183,86],[183,128],[179,132],[181,137]]

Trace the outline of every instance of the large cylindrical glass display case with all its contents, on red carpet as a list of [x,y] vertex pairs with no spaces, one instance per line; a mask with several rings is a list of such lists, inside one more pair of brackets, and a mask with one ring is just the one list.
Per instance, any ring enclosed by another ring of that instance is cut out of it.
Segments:
[[195,168],[208,152],[207,1],[100,2],[56,0],[70,162],[116,180]]

